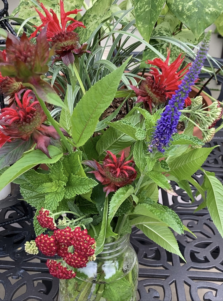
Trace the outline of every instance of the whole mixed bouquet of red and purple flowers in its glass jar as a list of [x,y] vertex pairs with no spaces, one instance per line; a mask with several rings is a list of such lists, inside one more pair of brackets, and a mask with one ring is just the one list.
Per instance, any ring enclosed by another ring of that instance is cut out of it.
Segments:
[[[74,29],[85,26],[68,17],[78,9],[65,12],[60,0],[59,20],[40,6],[42,23],[29,36],[18,39],[1,31],[6,49],[0,52],[0,90],[9,96],[9,106],[0,115],[0,190],[9,182],[20,184],[24,200],[35,208],[36,238],[25,250],[47,256],[49,272],[60,278],[60,300],[135,300],[132,225],[183,260],[172,230],[190,231],[157,202],[158,188],[177,195],[170,184],[175,181],[196,204],[193,185],[203,198],[197,209],[208,206],[223,236],[223,187],[201,167],[216,147],[204,143],[212,139],[222,108],[218,101],[204,108],[201,96],[189,97],[210,33],[192,64],[182,67],[181,54],[169,64],[168,51],[166,60],[146,61],[153,67],[137,85],[124,73],[131,58],[123,57],[106,76],[106,66],[112,66],[107,61],[103,68],[96,61],[88,73],[98,50],[94,43],[79,44]],[[51,85],[45,76],[49,68],[56,69]],[[59,71],[66,82],[64,98],[52,88],[62,78]],[[123,85],[127,88],[120,89]],[[112,122],[121,107],[102,119],[117,95],[124,95],[122,104],[134,97],[132,109],[118,121]],[[179,121],[183,134],[176,130]],[[202,140],[193,136],[195,126]],[[202,185],[191,177],[198,169],[204,173]]]

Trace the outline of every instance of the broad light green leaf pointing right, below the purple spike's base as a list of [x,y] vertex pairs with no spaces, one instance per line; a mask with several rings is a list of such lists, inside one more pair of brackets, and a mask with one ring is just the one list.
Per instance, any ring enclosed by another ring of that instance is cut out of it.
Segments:
[[168,161],[169,173],[180,181],[187,179],[199,169],[215,147],[190,149],[183,156]]

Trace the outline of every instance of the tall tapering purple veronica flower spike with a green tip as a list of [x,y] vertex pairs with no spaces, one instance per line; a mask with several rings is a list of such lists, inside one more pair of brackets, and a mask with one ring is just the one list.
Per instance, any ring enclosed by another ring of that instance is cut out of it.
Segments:
[[198,75],[206,58],[210,36],[210,32],[206,34],[188,73],[184,76],[184,79],[178,86],[178,90],[175,91],[176,94],[172,95],[160,119],[158,119],[148,151],[152,152],[153,148],[157,148],[158,151],[163,153],[165,151],[164,148],[169,147],[169,142],[172,140],[171,136],[176,132],[176,127],[180,119],[181,112],[179,112],[179,110],[183,109],[184,101],[191,91],[191,86],[194,85],[194,82],[198,79]]

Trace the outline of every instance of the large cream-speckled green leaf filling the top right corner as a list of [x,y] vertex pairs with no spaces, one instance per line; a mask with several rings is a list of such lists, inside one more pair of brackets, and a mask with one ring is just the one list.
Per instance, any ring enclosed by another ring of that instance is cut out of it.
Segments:
[[169,9],[191,29],[196,38],[219,17],[223,11],[221,0],[167,0]]

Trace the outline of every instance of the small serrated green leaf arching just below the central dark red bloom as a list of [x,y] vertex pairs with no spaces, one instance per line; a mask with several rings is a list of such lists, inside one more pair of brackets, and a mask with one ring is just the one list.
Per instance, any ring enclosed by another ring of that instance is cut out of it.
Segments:
[[116,214],[119,206],[126,200],[132,193],[134,192],[134,188],[131,185],[127,185],[119,188],[109,203],[109,212],[108,212],[108,225]]

